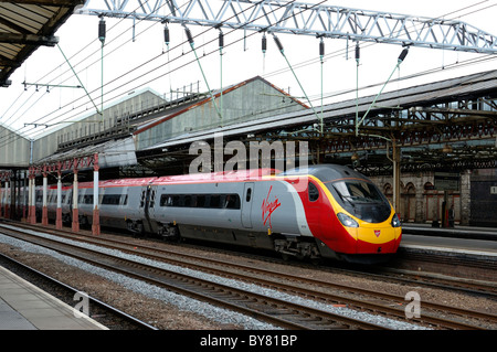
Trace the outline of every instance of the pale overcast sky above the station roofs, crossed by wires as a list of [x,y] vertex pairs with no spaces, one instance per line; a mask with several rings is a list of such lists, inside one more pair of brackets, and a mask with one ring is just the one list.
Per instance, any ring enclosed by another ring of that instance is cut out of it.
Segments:
[[[181,1],[179,1],[181,2]],[[302,1],[316,3],[317,1]],[[96,2],[97,3],[97,2]],[[399,0],[337,0],[324,4],[366,9],[382,12],[404,13],[430,18],[456,19],[472,24],[483,31],[497,35],[497,1],[480,0],[442,0],[442,1],[399,1]],[[464,10],[463,10],[464,9]],[[55,34],[60,46],[80,79],[91,93],[95,104],[101,106],[101,42],[98,41],[97,17],[72,15]],[[131,92],[150,87],[169,97],[171,89],[182,89],[200,81],[200,89],[207,90],[199,65],[190,50],[183,29],[170,24],[170,51],[163,44],[163,25],[157,22],[136,22],[135,41],[133,41],[133,21],[106,19],[107,38],[104,47],[104,106],[128,96]],[[201,57],[201,65],[211,89],[221,85],[221,62],[218,52],[218,31],[205,26],[189,26],[195,36],[195,47]],[[260,75],[274,85],[300,97],[297,81],[288,71],[271,36],[267,38],[265,57],[261,51],[262,35],[247,32],[250,38],[243,41],[243,31],[226,34],[222,56],[222,85],[228,86]],[[320,106],[319,41],[313,36],[278,35],[285,54],[295,70],[305,93],[315,107]],[[212,41],[212,43],[210,43]],[[352,95],[337,95],[339,92],[356,88],[356,61],[353,43],[349,43],[347,55],[345,40],[325,40],[326,58],[324,68],[325,103],[352,98]],[[362,45],[364,47],[362,47]],[[359,67],[359,86],[381,84],[396,64],[402,51],[399,45],[361,44],[361,65]],[[210,54],[213,52],[212,54]],[[497,58],[497,55],[495,55]],[[409,75],[422,75],[416,79],[392,82],[387,90],[414,86],[427,82],[463,76],[470,73],[497,68],[496,60],[480,64],[456,65],[468,60],[485,58],[488,55],[454,53],[442,50],[412,47],[400,72],[392,79]],[[170,63],[168,63],[168,58]],[[453,68],[456,67],[456,68]],[[24,124],[49,124],[71,121],[85,114],[95,111],[95,107],[83,89],[77,88],[40,88],[34,86],[24,90],[23,82],[40,84],[78,85],[57,47],[40,47],[10,77],[12,84],[0,88],[0,124],[36,138],[46,130]],[[373,95],[381,86],[361,90],[361,95]],[[307,102],[305,102],[307,103]],[[60,125],[59,125],[60,126]]]

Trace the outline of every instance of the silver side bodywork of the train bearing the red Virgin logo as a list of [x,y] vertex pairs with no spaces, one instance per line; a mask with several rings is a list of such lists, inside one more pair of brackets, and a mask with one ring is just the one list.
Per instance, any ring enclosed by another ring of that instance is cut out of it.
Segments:
[[[124,181],[124,180],[121,180]],[[241,243],[256,247],[273,248],[268,235],[311,236],[304,206],[296,190],[283,180],[247,180],[240,182],[171,183],[144,180],[115,184],[99,183],[99,221],[102,226],[126,228],[162,236],[211,239]],[[167,206],[163,196],[184,195],[216,196],[228,202],[228,195],[237,195],[239,206],[225,204],[213,206]],[[64,221],[72,217],[73,189],[62,190]],[[113,203],[108,204],[108,200]],[[78,217],[82,225],[93,222],[93,183],[81,183],[78,188]],[[41,216],[42,188],[36,188],[36,213]],[[56,186],[47,192],[49,218],[56,214]]]

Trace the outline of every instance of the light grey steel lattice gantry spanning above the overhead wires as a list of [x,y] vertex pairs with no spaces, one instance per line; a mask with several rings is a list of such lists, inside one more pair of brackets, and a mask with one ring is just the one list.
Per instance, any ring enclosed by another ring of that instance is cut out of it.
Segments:
[[497,54],[497,36],[453,20],[281,0],[94,3],[87,0],[75,13]]

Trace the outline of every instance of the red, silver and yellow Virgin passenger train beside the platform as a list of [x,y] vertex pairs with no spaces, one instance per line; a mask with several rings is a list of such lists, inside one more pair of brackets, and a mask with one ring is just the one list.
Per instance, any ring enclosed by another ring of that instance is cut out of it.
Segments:
[[[101,226],[168,239],[194,238],[279,253],[285,258],[388,260],[401,222],[373,182],[345,166],[318,164],[99,181]],[[42,188],[36,188],[41,214]],[[56,185],[47,190],[49,218]],[[78,183],[81,225],[93,222],[93,182]],[[62,216],[72,216],[72,186],[62,189]]]

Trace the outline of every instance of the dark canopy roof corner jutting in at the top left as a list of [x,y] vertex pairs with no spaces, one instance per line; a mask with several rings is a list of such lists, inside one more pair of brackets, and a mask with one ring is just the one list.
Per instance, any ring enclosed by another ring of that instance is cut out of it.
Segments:
[[41,45],[54,46],[56,30],[84,0],[0,0],[0,87]]

